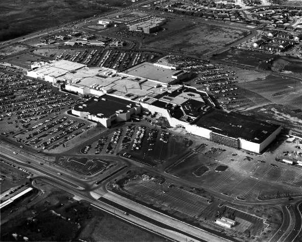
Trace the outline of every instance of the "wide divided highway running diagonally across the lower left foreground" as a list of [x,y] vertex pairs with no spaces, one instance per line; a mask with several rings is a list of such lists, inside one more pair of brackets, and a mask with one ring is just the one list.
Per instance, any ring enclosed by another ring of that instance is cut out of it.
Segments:
[[[91,189],[93,184],[86,183],[85,180],[80,180],[74,175],[68,175],[68,174],[58,175],[57,167],[49,166],[46,164],[39,165],[39,162],[41,160],[38,159],[38,157],[31,158],[28,155],[28,153],[21,152],[20,150],[18,150],[18,154],[16,155],[12,154],[12,149],[9,149],[5,145],[2,145],[2,149],[0,150],[0,157],[10,162],[13,162],[16,165],[25,167],[28,170],[31,170],[33,173],[38,172],[37,173],[38,175],[36,177],[42,178],[43,180],[51,181],[51,183],[54,184],[55,186],[73,195],[77,195],[78,197],[83,198],[84,200],[90,202],[91,204],[109,209],[111,211],[115,209],[113,206],[110,206],[104,202],[94,199],[91,196],[90,191],[93,190]],[[27,161],[31,161],[31,163],[28,164]],[[115,174],[115,176],[117,175],[118,174]],[[112,179],[114,177],[110,177],[110,178]],[[155,224],[152,223],[147,223],[145,220],[138,218],[136,216],[127,216],[127,215],[123,216],[124,219],[130,220],[132,222],[136,222],[140,226],[148,230],[156,231],[157,233],[161,231],[162,234],[166,234],[166,236],[168,236],[169,238],[178,241],[184,241],[185,239],[192,240],[192,241],[196,241],[196,240],[231,241],[225,238],[221,238],[217,235],[210,234],[205,230],[186,224],[177,219],[171,218],[165,214],[159,213],[158,211],[152,210],[148,207],[139,205],[138,203],[133,202],[129,199],[125,199],[117,195],[115,196],[113,193],[111,195],[108,195],[108,191],[105,188],[106,186],[98,187],[97,191],[99,191],[100,189],[102,191],[100,196],[106,195],[107,198],[109,197],[111,201],[114,201],[122,206],[128,207],[129,209],[132,209],[135,213],[138,213],[143,217],[148,217],[150,219],[153,219],[154,221],[165,224],[166,226],[170,226],[176,229],[177,231],[170,231],[170,230],[166,231],[166,229],[156,226]],[[182,231],[182,233],[178,231]]]

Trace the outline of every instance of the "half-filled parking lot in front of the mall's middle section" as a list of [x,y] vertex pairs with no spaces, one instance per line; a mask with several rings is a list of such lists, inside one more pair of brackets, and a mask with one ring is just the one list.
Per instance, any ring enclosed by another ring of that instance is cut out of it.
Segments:
[[116,154],[148,166],[164,166],[187,154],[192,144],[182,135],[147,122],[125,124],[101,133],[97,139],[80,146],[80,154]]

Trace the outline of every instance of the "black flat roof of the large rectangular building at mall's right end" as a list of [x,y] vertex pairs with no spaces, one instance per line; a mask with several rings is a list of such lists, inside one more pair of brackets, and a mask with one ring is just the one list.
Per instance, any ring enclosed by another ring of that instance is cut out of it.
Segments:
[[233,138],[242,138],[254,143],[262,143],[280,126],[234,112],[211,109],[195,119],[191,124],[212,130]]

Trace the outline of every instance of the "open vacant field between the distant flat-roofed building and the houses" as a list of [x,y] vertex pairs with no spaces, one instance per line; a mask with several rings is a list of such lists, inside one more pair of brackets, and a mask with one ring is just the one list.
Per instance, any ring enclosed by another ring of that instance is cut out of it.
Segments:
[[155,38],[145,40],[145,47],[197,56],[222,48],[246,33],[228,26],[194,24],[182,20],[171,20],[162,28],[166,30],[159,32]]

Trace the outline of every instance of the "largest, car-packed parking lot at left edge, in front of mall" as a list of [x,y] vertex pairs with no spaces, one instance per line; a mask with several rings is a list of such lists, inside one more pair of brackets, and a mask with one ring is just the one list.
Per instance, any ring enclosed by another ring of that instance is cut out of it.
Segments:
[[64,114],[79,98],[24,76],[0,73],[0,83],[1,134],[20,146],[53,149],[94,126]]

